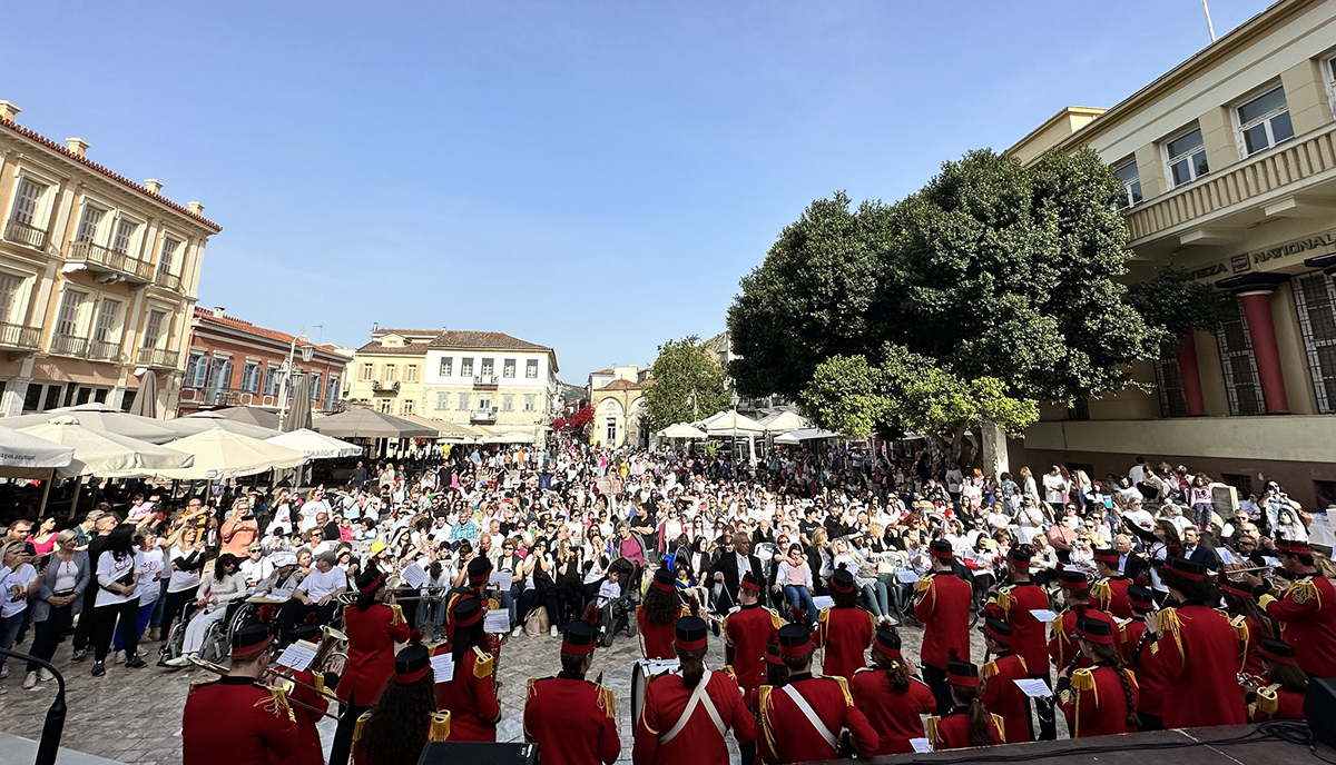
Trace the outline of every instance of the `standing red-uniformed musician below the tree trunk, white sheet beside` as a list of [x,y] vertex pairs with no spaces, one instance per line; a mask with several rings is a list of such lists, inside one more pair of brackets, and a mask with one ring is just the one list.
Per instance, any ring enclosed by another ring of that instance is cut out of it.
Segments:
[[[1011,627],[1011,652],[1025,660],[1031,680],[1042,680],[1050,689],[1053,678],[1049,669],[1047,625],[1034,617],[1034,610],[1049,609],[1049,594],[1030,578],[1030,561],[1034,558],[1031,545],[1015,545],[1006,554],[1007,573],[1011,583],[998,587],[983,609],[983,617],[1002,619]],[[1050,698],[1034,700],[1039,717],[1039,740],[1053,741],[1058,737],[1057,720]],[[1025,701],[1026,717],[1030,714],[1030,698]]]

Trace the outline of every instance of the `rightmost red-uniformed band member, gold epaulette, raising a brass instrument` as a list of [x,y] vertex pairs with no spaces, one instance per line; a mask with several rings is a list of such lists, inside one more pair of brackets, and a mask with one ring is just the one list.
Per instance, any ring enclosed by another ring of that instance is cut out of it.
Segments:
[[1276,542],[1276,557],[1293,583],[1263,595],[1261,607],[1280,622],[1280,638],[1293,646],[1299,669],[1336,677],[1336,587],[1313,565],[1308,542]]

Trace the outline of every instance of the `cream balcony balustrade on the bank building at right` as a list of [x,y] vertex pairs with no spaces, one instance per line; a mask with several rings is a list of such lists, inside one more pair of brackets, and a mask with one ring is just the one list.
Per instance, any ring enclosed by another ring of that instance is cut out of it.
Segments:
[[1259,152],[1128,211],[1136,242],[1336,167],[1336,123]]

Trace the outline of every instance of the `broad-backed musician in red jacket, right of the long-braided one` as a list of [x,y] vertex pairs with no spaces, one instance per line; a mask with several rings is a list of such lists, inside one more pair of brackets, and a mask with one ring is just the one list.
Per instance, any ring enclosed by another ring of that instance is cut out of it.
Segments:
[[[1164,681],[1165,728],[1242,725],[1248,720],[1238,693],[1241,646],[1229,619],[1213,609],[1220,591],[1206,567],[1184,558],[1166,558],[1160,581],[1173,605],[1152,622],[1149,665]],[[1144,658],[1145,661],[1145,658]]]

